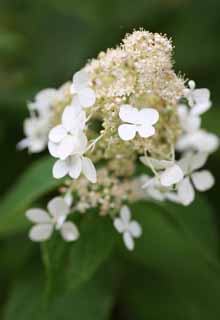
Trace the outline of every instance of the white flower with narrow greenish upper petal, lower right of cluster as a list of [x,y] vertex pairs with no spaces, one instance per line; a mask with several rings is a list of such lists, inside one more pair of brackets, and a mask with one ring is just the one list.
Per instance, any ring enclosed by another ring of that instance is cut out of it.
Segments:
[[[150,157],[140,157],[140,160],[146,166],[159,171],[156,178],[162,187],[171,187],[183,179],[183,171],[175,161],[157,160]],[[147,181],[143,188],[147,188],[149,184],[151,184],[151,181]]]

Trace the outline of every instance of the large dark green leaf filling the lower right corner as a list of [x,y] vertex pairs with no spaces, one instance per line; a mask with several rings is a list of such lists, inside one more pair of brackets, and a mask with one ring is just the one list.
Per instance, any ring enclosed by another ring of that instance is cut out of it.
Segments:
[[220,262],[211,247],[218,239],[205,231],[213,230],[213,211],[204,199],[188,209],[173,209],[133,206],[143,235],[134,252],[126,255],[124,304],[137,320],[219,319]]

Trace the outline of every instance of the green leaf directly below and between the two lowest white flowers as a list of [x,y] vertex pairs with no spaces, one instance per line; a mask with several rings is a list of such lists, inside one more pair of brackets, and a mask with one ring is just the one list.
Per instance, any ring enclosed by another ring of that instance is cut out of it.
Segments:
[[112,253],[114,240],[109,217],[88,211],[82,217],[80,238],[75,243],[54,237],[43,244],[48,294],[57,290],[73,290],[88,281]]

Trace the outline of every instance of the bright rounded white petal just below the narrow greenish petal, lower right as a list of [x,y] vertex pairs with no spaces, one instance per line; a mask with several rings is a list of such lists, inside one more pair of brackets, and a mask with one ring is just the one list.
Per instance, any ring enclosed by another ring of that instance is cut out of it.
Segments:
[[172,167],[166,169],[160,175],[160,181],[164,187],[172,186],[173,184],[180,182],[182,179],[183,171],[177,164],[174,164]]

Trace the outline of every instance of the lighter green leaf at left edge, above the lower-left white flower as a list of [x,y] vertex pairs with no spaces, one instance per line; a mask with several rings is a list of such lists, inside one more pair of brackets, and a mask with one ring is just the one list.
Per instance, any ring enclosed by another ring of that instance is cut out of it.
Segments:
[[52,177],[52,164],[52,158],[36,161],[1,199],[0,236],[25,229],[28,226],[25,210],[33,201],[60,184],[60,181]]

